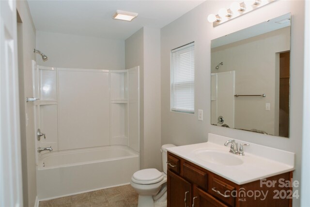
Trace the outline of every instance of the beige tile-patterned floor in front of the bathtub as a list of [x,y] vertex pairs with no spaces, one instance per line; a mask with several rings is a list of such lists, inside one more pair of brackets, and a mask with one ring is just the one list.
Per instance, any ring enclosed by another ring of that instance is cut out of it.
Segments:
[[119,186],[40,201],[39,207],[137,207],[138,194],[130,186]]

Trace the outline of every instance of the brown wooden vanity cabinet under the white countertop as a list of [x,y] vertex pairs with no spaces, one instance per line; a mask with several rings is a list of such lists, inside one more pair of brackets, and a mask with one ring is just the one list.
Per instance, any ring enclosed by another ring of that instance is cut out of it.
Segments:
[[266,178],[276,182],[272,187],[260,180],[238,185],[171,152],[167,159],[168,207],[292,207],[292,199],[276,194],[292,191],[279,186],[279,179],[291,180],[292,172]]

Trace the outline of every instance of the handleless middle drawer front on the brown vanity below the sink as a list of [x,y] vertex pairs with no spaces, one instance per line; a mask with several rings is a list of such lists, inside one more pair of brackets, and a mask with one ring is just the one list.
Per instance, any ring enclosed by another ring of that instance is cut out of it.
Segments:
[[207,189],[207,174],[186,162],[183,164],[183,176],[192,183],[200,186],[203,190]]

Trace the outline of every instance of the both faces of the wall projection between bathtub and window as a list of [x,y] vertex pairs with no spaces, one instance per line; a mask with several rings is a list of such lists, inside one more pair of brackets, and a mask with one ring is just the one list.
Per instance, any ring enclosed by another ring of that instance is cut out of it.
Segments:
[[125,45],[126,68],[140,66],[140,168],[161,169],[160,30],[144,27]]

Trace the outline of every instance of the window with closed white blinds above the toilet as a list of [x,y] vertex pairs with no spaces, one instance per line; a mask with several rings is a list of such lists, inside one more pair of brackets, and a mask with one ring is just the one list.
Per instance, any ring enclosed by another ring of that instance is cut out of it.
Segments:
[[171,50],[171,111],[194,113],[194,42]]

